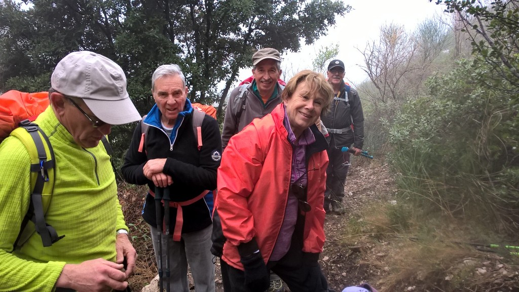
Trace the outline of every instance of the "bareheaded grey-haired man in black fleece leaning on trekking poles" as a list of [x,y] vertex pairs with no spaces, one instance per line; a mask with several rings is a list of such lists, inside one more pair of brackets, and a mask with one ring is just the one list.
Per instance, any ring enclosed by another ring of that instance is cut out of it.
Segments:
[[[216,188],[222,142],[218,122],[194,109],[187,99],[188,92],[178,65],[162,65],[155,70],[152,76],[155,105],[135,128],[122,175],[131,184],[149,187],[143,218],[151,229],[159,269],[163,263],[168,267],[171,259],[171,274],[168,276],[166,271],[162,285],[169,285],[172,291],[188,292],[189,264],[195,290],[214,292],[210,252],[212,197],[208,197],[212,193],[207,190]],[[169,214],[165,214],[168,209],[160,200],[155,199],[156,191],[161,189],[164,194],[169,191],[171,196],[170,204],[164,202],[170,206]],[[161,214],[165,216],[165,231],[168,227],[174,230],[172,238],[160,232]]]

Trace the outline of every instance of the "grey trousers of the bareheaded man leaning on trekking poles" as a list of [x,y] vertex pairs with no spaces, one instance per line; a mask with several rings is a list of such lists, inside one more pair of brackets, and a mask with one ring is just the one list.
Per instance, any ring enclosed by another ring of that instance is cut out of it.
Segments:
[[[158,262],[158,234],[157,228],[149,226],[152,233],[155,259]],[[173,234],[169,235],[170,277],[166,282],[166,235],[162,234],[162,275],[163,287],[169,284],[171,291],[189,292],[187,281],[187,265],[191,268],[195,292],[214,292],[214,263],[211,254],[212,225],[195,232],[182,233],[180,241],[173,240]]]

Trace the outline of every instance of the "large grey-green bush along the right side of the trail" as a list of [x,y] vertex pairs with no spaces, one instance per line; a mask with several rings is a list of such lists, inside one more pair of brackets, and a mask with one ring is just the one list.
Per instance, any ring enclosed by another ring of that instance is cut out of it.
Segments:
[[402,106],[389,133],[401,195],[426,211],[517,226],[517,93],[467,60],[427,87],[427,96]]

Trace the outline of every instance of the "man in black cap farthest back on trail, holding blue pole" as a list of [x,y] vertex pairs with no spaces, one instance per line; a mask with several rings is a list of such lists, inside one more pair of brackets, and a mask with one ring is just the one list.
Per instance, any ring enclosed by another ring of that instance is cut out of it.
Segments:
[[343,61],[332,60],[327,74],[335,96],[330,111],[321,113],[321,121],[330,134],[330,146],[326,150],[330,163],[326,169],[324,211],[343,214],[344,184],[350,154],[342,152],[341,148],[353,149],[355,156],[361,154],[364,144],[364,114],[357,90],[344,82]]

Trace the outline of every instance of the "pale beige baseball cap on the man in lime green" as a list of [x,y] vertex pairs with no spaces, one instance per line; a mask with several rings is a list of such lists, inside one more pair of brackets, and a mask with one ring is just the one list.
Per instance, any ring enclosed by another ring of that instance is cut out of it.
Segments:
[[126,91],[126,75],[114,61],[90,51],[72,52],[52,72],[54,90],[81,98],[105,123],[139,121],[141,115]]

